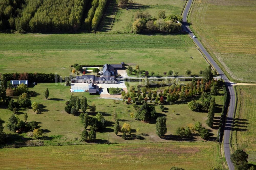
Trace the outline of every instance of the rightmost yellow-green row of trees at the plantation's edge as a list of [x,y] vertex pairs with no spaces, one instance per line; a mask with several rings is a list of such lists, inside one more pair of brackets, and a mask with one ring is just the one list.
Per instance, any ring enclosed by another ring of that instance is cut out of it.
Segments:
[[95,14],[92,19],[92,29],[93,30],[96,30],[100,23],[106,3],[107,3],[106,0],[99,0],[99,6],[95,10]]

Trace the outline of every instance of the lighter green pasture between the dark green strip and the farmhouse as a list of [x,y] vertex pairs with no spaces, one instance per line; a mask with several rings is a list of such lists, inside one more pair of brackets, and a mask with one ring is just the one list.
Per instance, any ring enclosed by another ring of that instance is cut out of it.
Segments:
[[[190,41],[190,39],[188,39]],[[121,62],[135,63],[141,70],[163,74],[169,69],[185,74],[204,70],[207,63],[196,48],[185,49],[134,49],[134,50],[34,50],[1,51],[0,72],[43,72],[69,75],[69,66]],[[72,57],[71,57],[72,56]],[[189,56],[193,56],[190,59]],[[159,66],[161,65],[161,67]]]

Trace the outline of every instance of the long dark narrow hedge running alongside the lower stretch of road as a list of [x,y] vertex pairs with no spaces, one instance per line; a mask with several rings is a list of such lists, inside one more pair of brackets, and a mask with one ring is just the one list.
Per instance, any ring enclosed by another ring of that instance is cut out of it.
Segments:
[[[217,141],[219,141],[219,138],[223,135],[223,128],[225,127],[225,119],[227,115],[227,110],[228,110],[228,93],[227,93],[227,87],[223,85],[223,91],[224,91],[224,102],[222,106],[222,111],[221,111],[221,116],[220,116],[220,123],[219,123],[219,130],[218,130],[218,135],[217,135]],[[221,133],[219,135],[219,132]]]

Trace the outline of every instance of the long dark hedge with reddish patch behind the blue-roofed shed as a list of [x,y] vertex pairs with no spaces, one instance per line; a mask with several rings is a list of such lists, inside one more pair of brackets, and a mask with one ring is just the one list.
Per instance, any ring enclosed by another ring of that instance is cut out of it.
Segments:
[[54,83],[56,76],[57,82],[59,82],[60,75],[55,74],[45,74],[45,73],[5,73],[3,74],[6,77],[7,81],[10,80],[28,80],[30,82],[39,82],[39,83]]

